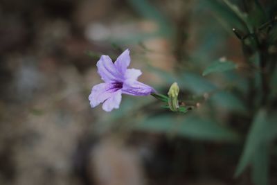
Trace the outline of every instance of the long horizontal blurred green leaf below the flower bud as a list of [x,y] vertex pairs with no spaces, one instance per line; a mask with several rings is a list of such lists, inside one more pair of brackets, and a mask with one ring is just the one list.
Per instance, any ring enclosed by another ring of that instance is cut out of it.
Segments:
[[199,118],[197,115],[163,114],[147,118],[136,125],[137,130],[176,134],[192,139],[210,141],[236,141],[238,135],[214,121]]

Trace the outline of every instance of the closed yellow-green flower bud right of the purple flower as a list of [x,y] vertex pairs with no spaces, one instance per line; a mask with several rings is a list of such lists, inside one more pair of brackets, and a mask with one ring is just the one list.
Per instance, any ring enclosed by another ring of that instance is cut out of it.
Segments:
[[177,82],[174,82],[168,91],[168,105],[170,110],[177,112],[179,108],[178,102],[179,87]]

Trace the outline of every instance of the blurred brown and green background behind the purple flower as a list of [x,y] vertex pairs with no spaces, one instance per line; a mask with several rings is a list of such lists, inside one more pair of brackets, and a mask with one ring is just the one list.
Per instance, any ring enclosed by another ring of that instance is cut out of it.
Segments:
[[252,184],[249,169],[233,178],[249,127],[247,95],[218,91],[174,118],[153,97],[123,96],[111,113],[88,100],[101,82],[100,55],[115,60],[127,48],[141,82],[161,94],[175,81],[185,99],[208,98],[217,87],[247,91],[243,74],[202,77],[220,58],[244,61],[240,40],[216,14],[221,8],[192,0],[1,0],[0,184]]

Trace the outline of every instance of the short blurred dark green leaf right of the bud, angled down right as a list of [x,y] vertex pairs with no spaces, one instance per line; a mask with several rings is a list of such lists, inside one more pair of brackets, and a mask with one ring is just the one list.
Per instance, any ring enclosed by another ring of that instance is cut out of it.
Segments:
[[240,100],[237,96],[231,94],[230,92],[217,91],[211,96],[211,100],[217,105],[217,107],[229,109],[231,111],[240,113],[247,112],[247,108],[242,103],[242,100]]

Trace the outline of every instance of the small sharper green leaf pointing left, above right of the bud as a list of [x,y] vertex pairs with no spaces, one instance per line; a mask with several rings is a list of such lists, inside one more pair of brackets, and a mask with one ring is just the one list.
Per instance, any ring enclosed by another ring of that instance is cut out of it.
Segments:
[[213,62],[209,67],[207,67],[204,70],[202,75],[206,76],[209,73],[229,71],[229,70],[235,69],[237,67],[238,67],[238,64],[235,64],[232,61],[217,60],[217,61]]

